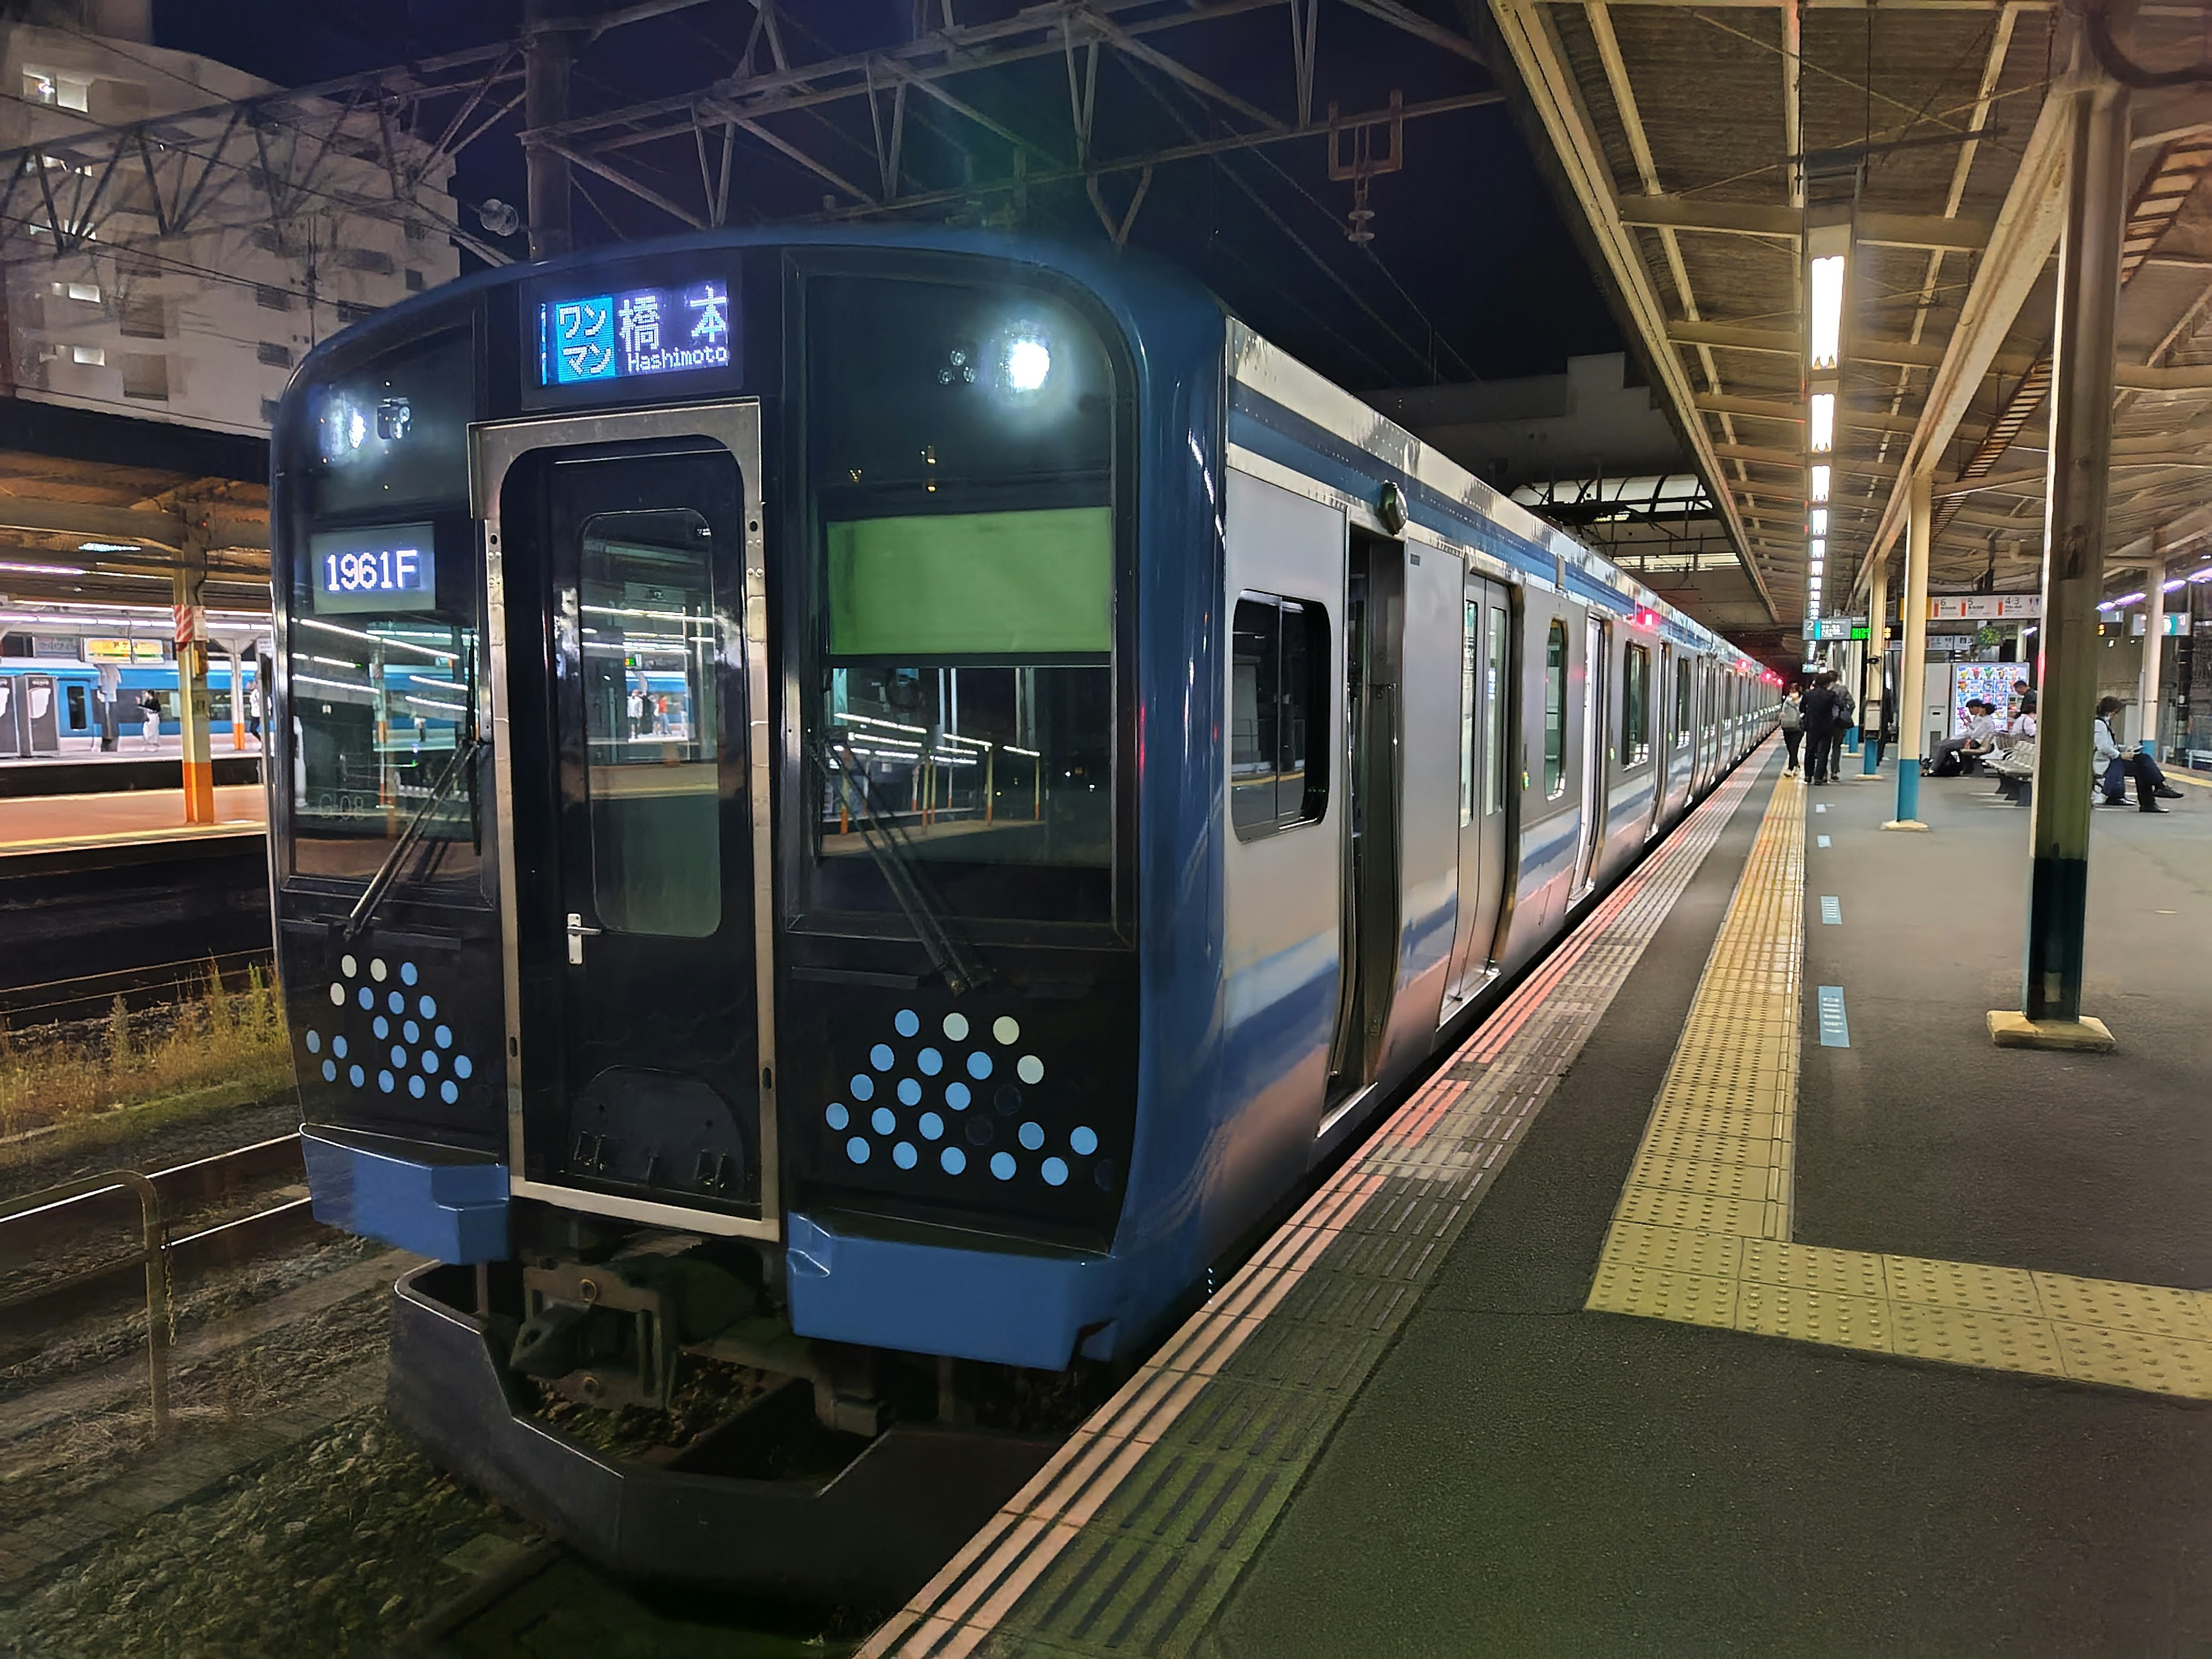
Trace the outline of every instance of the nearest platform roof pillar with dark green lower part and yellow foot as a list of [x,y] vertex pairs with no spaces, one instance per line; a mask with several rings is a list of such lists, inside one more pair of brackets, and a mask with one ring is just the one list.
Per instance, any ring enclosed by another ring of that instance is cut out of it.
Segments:
[[[2119,237],[2128,212],[2128,88],[2081,75],[2066,93],[2066,219],[2051,347],[2051,482],[2044,507],[2042,697],[2028,807],[2024,1015],[1991,1013],[1991,1037],[2026,1046],[2112,1046],[2081,1018],[2088,814],[2095,770],[2097,599],[2104,591],[2112,462],[2112,343]],[[2139,783],[2139,790],[2143,785]],[[2152,805],[2148,792],[2143,803]]]

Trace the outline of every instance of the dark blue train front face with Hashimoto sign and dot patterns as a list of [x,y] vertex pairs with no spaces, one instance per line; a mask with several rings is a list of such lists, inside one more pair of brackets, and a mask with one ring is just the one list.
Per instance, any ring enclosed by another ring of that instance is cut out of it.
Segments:
[[[1146,1312],[1139,354],[1093,285],[940,243],[493,272],[321,349],[276,425],[316,1214],[440,1263],[403,1416],[646,1571],[732,1575],[580,1498],[533,1402],[666,1405],[710,1354],[922,1467],[978,1367]],[[834,1577],[748,1515],[739,1577]]]

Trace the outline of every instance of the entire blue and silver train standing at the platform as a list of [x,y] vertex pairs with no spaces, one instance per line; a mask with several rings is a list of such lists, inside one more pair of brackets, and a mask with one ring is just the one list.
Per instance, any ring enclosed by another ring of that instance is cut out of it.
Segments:
[[[398,1413],[670,1577],[911,1588],[1042,1455],[973,1398],[1141,1354],[1774,701],[1181,274],[956,230],[409,301],[270,522],[316,1214],[440,1263]],[[841,1473],[533,1416],[688,1347]]]

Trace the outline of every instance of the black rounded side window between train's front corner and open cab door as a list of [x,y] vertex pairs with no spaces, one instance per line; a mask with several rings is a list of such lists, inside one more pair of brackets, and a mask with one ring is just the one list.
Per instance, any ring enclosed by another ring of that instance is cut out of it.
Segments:
[[1230,646],[1230,823],[1239,841],[1327,812],[1327,745],[1312,743],[1327,697],[1327,613],[1270,593],[1239,597]]

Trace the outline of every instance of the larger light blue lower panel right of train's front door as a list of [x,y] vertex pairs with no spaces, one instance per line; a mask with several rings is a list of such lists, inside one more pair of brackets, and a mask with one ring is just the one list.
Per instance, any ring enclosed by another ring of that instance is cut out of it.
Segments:
[[832,1232],[787,1217],[792,1329],[834,1343],[951,1354],[1060,1371],[1113,1352],[1121,1267],[1115,1256],[1044,1256]]

